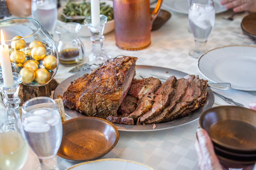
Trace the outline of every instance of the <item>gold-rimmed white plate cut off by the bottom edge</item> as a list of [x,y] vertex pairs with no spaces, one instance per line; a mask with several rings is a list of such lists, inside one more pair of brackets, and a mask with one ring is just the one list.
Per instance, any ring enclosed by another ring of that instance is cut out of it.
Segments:
[[125,159],[98,159],[71,166],[67,170],[154,170],[139,162]]

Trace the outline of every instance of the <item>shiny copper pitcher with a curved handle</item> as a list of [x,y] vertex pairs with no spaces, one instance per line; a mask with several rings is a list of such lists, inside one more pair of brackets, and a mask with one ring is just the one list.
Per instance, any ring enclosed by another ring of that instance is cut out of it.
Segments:
[[124,50],[141,50],[151,43],[151,27],[163,0],[150,12],[149,0],[113,0],[116,45]]

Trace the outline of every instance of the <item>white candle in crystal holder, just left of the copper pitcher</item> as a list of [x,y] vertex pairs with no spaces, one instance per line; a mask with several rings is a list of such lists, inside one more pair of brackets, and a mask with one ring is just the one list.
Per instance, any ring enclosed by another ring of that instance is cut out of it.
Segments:
[[91,0],[92,26],[100,24],[100,0]]

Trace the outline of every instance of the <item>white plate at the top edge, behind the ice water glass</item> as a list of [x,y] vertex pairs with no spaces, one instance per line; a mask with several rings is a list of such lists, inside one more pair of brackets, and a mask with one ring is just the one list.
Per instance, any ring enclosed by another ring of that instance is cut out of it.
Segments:
[[[221,13],[227,11],[224,5],[220,4],[220,0],[213,0],[215,13]],[[164,0],[163,6],[171,11],[188,14],[188,0]]]

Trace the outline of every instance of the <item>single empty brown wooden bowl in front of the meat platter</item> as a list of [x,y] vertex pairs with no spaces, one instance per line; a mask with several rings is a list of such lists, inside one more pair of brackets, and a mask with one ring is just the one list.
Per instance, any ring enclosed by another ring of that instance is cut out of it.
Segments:
[[97,117],[77,117],[63,122],[58,156],[72,161],[88,161],[111,151],[119,139],[116,126]]

